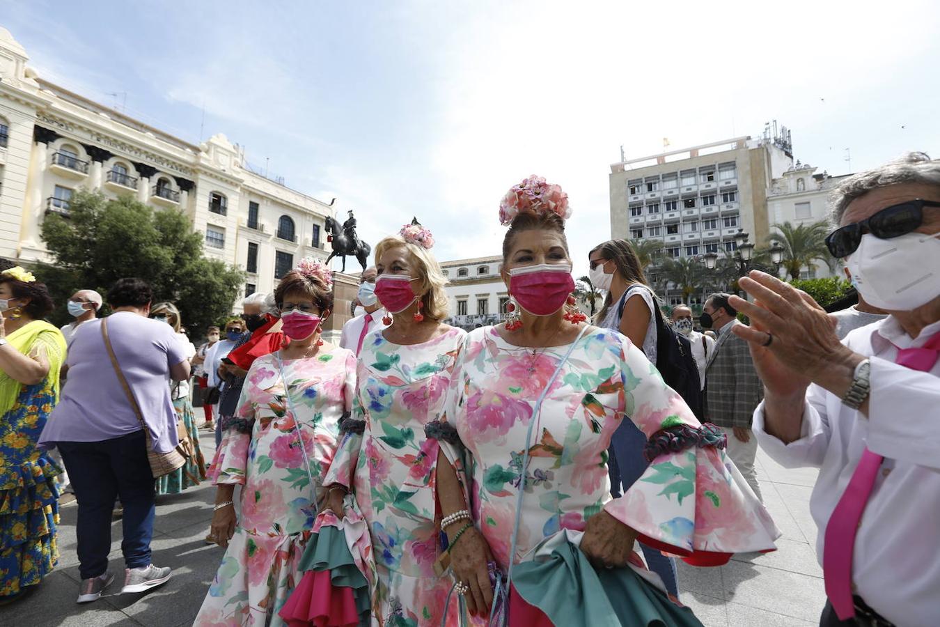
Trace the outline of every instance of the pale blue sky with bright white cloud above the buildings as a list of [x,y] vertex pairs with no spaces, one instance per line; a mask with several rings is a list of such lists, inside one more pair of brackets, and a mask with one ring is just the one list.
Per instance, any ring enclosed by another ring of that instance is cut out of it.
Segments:
[[225,133],[354,209],[371,243],[416,215],[442,260],[498,253],[499,198],[537,173],[569,193],[587,271],[621,144],[643,156],[776,119],[831,174],[846,148],[853,171],[940,155],[929,0],[0,4],[44,78],[118,108],[126,92],[129,115],[189,141]]

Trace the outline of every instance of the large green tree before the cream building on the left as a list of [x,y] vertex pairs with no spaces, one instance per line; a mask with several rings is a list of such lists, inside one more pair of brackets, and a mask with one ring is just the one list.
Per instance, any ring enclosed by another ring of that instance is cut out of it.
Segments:
[[154,212],[131,196],[117,200],[77,192],[69,216],[46,216],[42,239],[55,262],[36,268],[52,291],[56,321],[68,321],[65,302],[75,290],[107,293],[119,278],[149,282],[154,297],[180,307],[194,336],[231,313],[243,273],[202,256],[202,236],[180,211]]

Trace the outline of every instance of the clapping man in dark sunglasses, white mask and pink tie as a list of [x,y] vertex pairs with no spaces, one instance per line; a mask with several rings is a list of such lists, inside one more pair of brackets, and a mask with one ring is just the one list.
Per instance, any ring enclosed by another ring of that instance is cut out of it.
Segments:
[[840,343],[806,293],[752,272],[755,302],[731,304],[764,383],[760,446],[788,467],[816,466],[810,509],[828,603],[820,624],[932,627],[940,614],[940,161],[911,153],[845,180],[846,259],[885,320]]

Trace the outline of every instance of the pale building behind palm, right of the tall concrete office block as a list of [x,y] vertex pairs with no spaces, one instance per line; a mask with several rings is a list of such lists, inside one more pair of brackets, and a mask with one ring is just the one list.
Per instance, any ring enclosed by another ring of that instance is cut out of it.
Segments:
[[[767,190],[767,213],[771,228],[785,222],[793,226],[811,225],[829,221],[829,196],[840,180],[851,175],[829,176],[827,172],[816,174],[818,168],[796,162],[781,177],[775,179]],[[838,268],[834,273],[823,261],[815,261],[812,268],[804,268],[800,278],[822,278],[842,276]]]

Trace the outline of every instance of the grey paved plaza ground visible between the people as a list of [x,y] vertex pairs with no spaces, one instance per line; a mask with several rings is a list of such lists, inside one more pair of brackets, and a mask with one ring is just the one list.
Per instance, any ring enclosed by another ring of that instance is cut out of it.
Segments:
[[[213,442],[201,438],[206,458]],[[692,607],[707,627],[797,627],[819,624],[825,603],[823,572],[816,561],[816,527],[809,516],[809,492],[815,470],[786,470],[759,453],[758,477],[767,508],[783,533],[778,550],[766,555],[735,556],[720,568],[700,569],[680,562],[682,603]],[[78,558],[75,555],[74,504],[61,512],[55,572],[24,601],[0,607],[0,625],[10,627],[70,625],[191,625],[223,550],[204,541],[209,530],[214,489],[208,483],[157,501],[153,562],[173,569],[173,578],[145,595],[118,595],[124,564],[120,521],[112,526],[111,571],[116,581],[96,603],[78,605]]]

